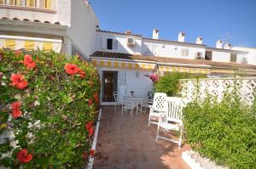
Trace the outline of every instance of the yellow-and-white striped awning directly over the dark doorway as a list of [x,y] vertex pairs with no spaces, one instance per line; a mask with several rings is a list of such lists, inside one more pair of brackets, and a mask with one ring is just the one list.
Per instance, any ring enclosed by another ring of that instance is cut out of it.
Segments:
[[123,69],[146,69],[154,70],[155,64],[142,63],[142,62],[128,62],[119,60],[106,60],[106,59],[92,59],[92,64],[98,67],[112,67]]

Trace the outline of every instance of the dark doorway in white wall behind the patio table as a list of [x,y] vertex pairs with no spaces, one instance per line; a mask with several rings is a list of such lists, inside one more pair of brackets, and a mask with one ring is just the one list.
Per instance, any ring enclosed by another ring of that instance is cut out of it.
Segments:
[[118,71],[103,71],[102,75],[102,102],[114,102],[113,92],[117,91]]

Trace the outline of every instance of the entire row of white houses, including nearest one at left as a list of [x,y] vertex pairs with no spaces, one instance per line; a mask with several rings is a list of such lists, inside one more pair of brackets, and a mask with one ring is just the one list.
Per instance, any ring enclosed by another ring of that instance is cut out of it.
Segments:
[[203,37],[186,42],[131,31],[103,31],[88,0],[0,0],[0,48],[55,50],[79,54],[96,66],[102,78],[102,103],[131,91],[147,95],[148,75],[188,72],[212,76],[256,75],[256,49],[232,47],[218,40],[214,48]]

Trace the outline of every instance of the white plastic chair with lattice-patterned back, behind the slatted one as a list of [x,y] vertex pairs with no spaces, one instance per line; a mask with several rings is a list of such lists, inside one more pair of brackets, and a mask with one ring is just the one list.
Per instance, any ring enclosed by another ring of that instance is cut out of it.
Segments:
[[166,93],[154,93],[153,105],[150,106],[148,116],[148,127],[150,124],[158,124],[158,121],[152,121],[152,117],[160,118],[160,115],[166,111]]

